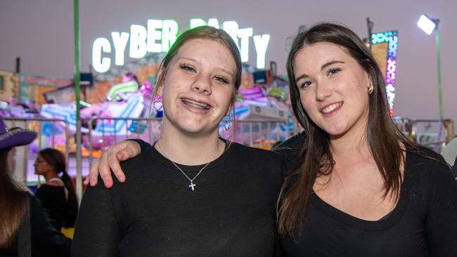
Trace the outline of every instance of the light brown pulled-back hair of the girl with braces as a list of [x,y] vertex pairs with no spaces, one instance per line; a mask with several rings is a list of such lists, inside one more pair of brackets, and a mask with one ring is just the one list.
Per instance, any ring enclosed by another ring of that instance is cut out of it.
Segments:
[[[179,35],[179,37],[176,39],[176,41],[174,42],[172,47],[169,48],[169,51],[167,52],[167,55],[165,55],[165,58],[163,58],[162,62],[160,63],[159,71],[162,70],[162,72],[157,77],[157,83],[156,83],[155,91],[153,93],[153,99],[155,98],[155,95],[157,95],[157,92],[158,92],[160,86],[163,86],[165,74],[167,74],[167,69],[169,67],[169,63],[173,60],[174,56],[176,56],[176,54],[178,53],[181,46],[186,44],[186,42],[191,41],[192,39],[210,39],[210,40],[218,41],[219,43],[226,46],[228,51],[230,51],[231,55],[233,56],[233,60],[235,60],[235,64],[236,64],[235,91],[233,92],[233,96],[231,99],[231,112],[232,112],[231,128],[232,128],[232,138],[233,138],[234,132],[235,132],[235,101],[236,101],[236,94],[238,93],[238,89],[240,88],[240,85],[241,85],[242,63],[241,63],[241,56],[240,56],[240,51],[238,51],[238,47],[236,46],[235,42],[230,37],[230,35],[227,32],[225,32],[223,29],[216,29],[216,28],[210,27],[210,26],[200,26],[200,27],[195,27],[193,29],[188,29],[185,32],[183,32],[181,35]],[[152,104],[154,104],[154,103],[152,103]]]

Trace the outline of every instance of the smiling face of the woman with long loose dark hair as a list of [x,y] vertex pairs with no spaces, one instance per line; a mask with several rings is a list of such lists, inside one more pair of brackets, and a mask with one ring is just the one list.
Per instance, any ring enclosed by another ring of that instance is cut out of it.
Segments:
[[368,74],[335,44],[305,46],[293,61],[300,102],[330,137],[364,133],[368,121]]

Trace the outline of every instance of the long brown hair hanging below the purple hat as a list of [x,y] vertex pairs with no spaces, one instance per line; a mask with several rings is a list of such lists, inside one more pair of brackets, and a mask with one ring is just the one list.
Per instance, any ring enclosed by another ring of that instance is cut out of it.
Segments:
[[8,249],[15,242],[27,200],[9,175],[7,159],[11,148],[0,149],[0,249]]

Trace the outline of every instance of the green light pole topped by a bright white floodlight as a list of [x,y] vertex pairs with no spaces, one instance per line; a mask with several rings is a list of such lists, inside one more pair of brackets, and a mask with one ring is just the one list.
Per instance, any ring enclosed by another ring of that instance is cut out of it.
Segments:
[[437,42],[437,65],[438,65],[438,98],[439,98],[439,119],[444,119],[443,114],[443,97],[441,88],[441,43],[439,42],[439,19],[429,18],[427,15],[420,15],[418,27],[427,34],[432,34],[435,31],[435,40]]

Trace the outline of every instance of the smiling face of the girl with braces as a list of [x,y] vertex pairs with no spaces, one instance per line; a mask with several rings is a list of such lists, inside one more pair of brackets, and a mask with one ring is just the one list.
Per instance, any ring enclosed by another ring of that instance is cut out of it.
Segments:
[[233,55],[219,41],[183,44],[164,74],[164,126],[193,136],[217,134],[234,97],[236,71]]

